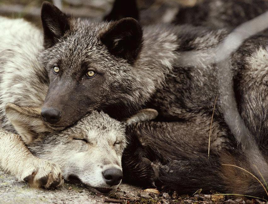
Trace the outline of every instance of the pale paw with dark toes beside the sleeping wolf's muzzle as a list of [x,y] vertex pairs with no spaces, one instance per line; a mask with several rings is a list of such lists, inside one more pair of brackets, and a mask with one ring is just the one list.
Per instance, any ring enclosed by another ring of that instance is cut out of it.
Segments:
[[25,172],[23,180],[31,187],[56,188],[63,184],[60,166],[47,160],[39,159],[30,170]]

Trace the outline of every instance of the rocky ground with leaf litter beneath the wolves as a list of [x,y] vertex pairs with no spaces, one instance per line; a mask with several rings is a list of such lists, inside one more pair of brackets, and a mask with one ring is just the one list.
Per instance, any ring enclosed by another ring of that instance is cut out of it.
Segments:
[[[200,192],[200,191],[199,191]],[[0,171],[0,203],[2,204],[46,204],[46,203],[265,203],[259,199],[245,197],[230,197],[224,195],[195,195],[177,196],[176,192],[159,192],[156,189],[141,189],[128,184],[108,194],[92,193],[85,186],[64,183],[55,190],[33,189],[24,182],[19,182],[14,176]],[[202,191],[201,191],[202,193]]]

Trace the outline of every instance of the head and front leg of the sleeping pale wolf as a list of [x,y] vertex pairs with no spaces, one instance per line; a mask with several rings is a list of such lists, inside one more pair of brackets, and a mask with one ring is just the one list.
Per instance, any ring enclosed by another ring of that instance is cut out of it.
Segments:
[[[31,90],[27,92],[29,97]],[[56,133],[44,125],[40,112],[36,107],[6,105],[6,115],[20,136],[1,130],[3,169],[34,187],[57,187],[63,183],[62,176],[78,180],[94,192],[107,193],[118,187],[123,177],[121,157],[127,123],[93,111],[75,126]],[[156,114],[154,110],[142,110],[127,122],[151,119]]]

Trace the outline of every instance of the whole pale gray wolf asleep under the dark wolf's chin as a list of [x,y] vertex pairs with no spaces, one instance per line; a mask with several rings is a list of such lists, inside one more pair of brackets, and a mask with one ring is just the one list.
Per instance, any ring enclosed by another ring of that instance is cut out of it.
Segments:
[[1,167],[34,187],[57,187],[63,176],[77,178],[95,192],[117,188],[122,179],[126,124],[153,119],[157,112],[142,110],[122,123],[93,111],[57,132],[40,115],[48,88],[46,72],[36,59],[42,35],[22,19],[1,17],[0,27],[0,105],[8,127],[1,128]]

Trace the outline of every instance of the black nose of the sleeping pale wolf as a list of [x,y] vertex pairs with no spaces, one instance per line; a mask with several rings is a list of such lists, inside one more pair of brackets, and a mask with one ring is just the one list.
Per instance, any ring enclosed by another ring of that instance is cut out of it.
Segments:
[[123,178],[123,173],[120,169],[106,169],[102,172],[105,182],[112,186],[120,184]]

